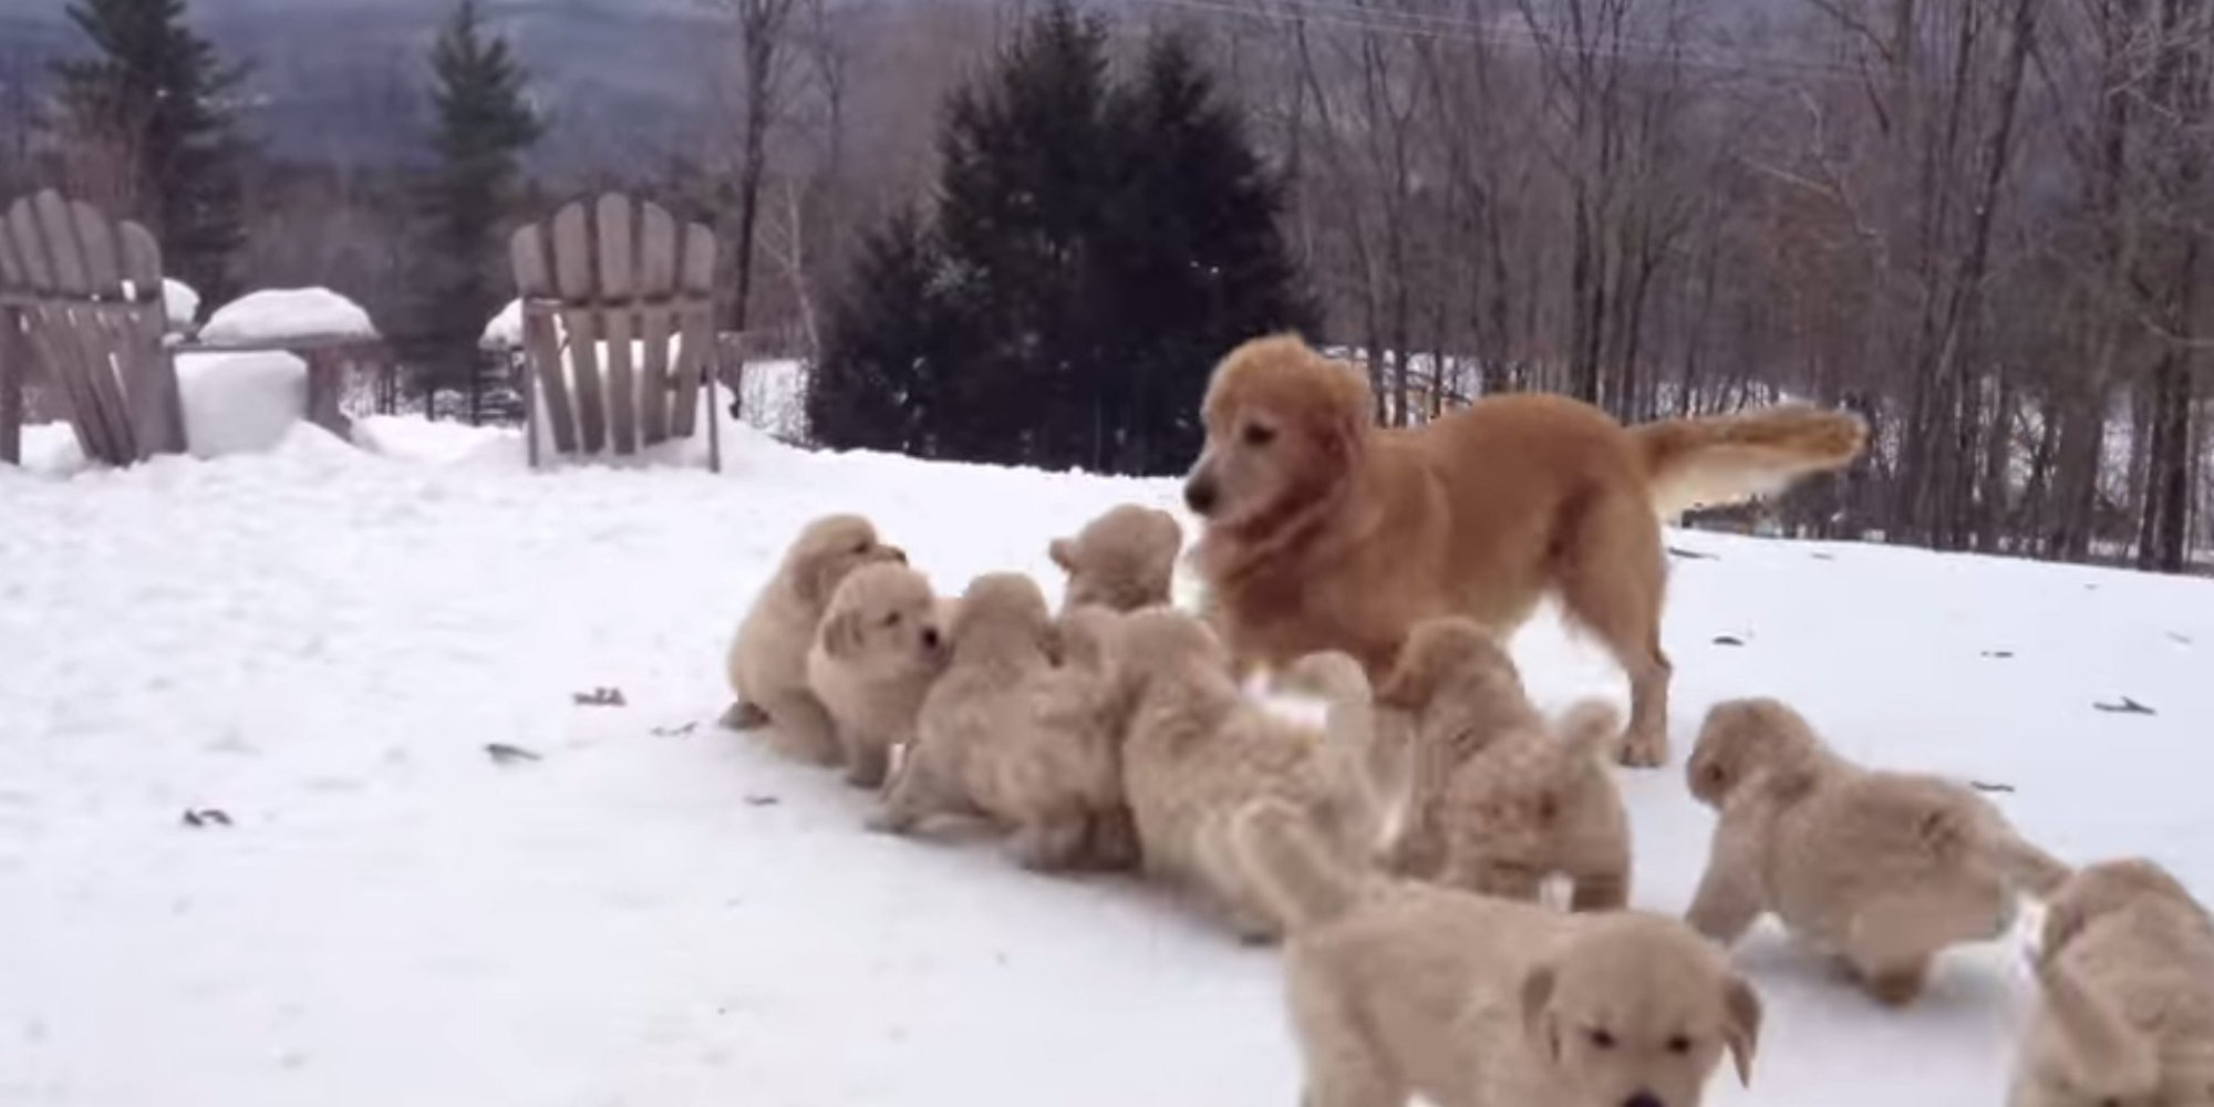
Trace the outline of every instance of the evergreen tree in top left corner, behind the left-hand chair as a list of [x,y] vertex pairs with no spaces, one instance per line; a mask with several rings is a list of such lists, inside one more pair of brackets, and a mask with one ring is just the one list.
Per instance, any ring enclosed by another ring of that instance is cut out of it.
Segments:
[[173,275],[226,297],[248,155],[226,97],[244,69],[190,29],[184,0],[75,0],[69,18],[100,51],[55,71],[77,139],[111,159],[102,199],[155,232]]

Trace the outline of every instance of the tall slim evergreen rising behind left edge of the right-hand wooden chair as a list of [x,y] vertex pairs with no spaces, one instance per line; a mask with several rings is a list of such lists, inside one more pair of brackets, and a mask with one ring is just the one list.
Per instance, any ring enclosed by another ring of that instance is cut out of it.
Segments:
[[507,40],[483,29],[476,0],[461,0],[454,9],[430,64],[438,166],[421,195],[418,383],[427,407],[434,407],[441,387],[467,390],[474,423],[485,392],[476,339],[500,308],[507,286],[500,230],[514,210],[520,157],[542,126],[523,95],[523,66]]

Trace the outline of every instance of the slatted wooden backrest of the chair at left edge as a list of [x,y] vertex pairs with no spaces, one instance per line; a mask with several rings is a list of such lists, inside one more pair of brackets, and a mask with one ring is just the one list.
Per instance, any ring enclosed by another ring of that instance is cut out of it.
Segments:
[[0,310],[69,403],[84,454],[108,465],[184,449],[184,403],[162,334],[162,248],[144,226],[46,190],[0,219]]

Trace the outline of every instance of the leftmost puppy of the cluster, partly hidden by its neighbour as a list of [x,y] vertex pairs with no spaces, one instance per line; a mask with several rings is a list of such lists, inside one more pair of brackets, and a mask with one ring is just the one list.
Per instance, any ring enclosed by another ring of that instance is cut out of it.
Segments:
[[899,547],[877,540],[877,527],[861,516],[808,523],[731,640],[726,669],[737,702],[724,713],[724,724],[775,726],[788,753],[837,764],[837,731],[808,689],[808,646],[815,644],[830,593],[848,573],[863,565],[906,560]]

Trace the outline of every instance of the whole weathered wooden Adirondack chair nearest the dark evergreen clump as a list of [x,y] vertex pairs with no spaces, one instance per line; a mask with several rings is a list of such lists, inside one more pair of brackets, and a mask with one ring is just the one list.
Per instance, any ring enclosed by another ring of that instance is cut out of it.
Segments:
[[523,299],[531,465],[538,423],[558,454],[638,454],[691,438],[706,410],[708,467],[722,438],[700,401],[715,354],[715,235],[658,204],[609,193],[509,241]]

